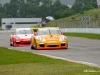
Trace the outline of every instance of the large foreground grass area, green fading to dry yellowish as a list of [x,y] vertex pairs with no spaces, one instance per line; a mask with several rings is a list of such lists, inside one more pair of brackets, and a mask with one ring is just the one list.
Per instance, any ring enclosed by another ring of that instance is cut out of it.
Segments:
[[99,75],[99,71],[97,67],[0,47],[0,75]]

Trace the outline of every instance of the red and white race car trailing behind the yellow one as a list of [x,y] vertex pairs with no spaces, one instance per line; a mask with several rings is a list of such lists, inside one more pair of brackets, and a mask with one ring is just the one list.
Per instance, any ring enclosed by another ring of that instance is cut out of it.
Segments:
[[10,35],[10,46],[30,46],[32,35],[34,31],[31,28],[13,29]]

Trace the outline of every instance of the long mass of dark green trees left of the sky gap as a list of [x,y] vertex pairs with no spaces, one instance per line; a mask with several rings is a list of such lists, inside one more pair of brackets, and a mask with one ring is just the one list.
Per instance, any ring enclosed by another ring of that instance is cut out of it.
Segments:
[[52,0],[11,0],[0,9],[2,10],[0,13],[5,13],[6,17],[12,18],[41,17],[45,19],[46,16],[53,16],[59,19],[74,14],[74,11],[62,4],[60,0],[54,3]]

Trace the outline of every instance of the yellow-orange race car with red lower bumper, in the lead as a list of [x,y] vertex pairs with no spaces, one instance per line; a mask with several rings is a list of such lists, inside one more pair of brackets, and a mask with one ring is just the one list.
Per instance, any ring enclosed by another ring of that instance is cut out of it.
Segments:
[[38,28],[31,37],[31,49],[67,49],[68,38],[58,27]]

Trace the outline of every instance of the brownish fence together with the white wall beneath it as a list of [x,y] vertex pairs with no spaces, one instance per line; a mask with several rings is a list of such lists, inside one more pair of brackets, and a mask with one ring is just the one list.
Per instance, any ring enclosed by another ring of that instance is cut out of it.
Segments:
[[100,19],[89,21],[82,20],[58,20],[56,26],[64,32],[96,33],[100,34]]

